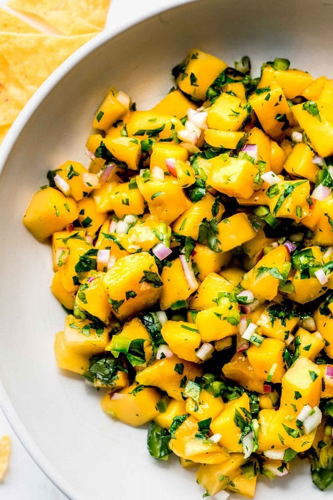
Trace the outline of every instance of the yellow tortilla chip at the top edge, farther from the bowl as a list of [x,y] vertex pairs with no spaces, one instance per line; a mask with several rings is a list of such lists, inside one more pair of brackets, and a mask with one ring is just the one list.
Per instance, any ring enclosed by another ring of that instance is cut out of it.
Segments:
[[83,34],[104,28],[110,0],[10,0],[15,10],[41,17],[60,33]]

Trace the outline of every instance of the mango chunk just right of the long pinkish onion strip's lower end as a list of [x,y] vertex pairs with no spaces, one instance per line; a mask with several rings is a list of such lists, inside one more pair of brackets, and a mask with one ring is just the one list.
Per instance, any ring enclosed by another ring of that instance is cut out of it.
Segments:
[[211,272],[200,283],[191,300],[190,309],[201,311],[213,307],[219,300],[219,293],[231,292],[234,286],[234,283],[223,276]]

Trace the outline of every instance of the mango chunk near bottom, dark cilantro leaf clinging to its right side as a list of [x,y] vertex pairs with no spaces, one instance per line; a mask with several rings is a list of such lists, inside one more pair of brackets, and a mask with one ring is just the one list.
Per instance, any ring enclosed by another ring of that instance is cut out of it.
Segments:
[[235,414],[240,413],[245,420],[247,419],[243,408],[250,411],[250,400],[246,392],[237,399],[228,401],[218,417],[211,423],[211,430],[214,434],[220,433],[219,443],[229,452],[242,452],[242,444],[238,441],[241,437],[241,429],[236,425]]

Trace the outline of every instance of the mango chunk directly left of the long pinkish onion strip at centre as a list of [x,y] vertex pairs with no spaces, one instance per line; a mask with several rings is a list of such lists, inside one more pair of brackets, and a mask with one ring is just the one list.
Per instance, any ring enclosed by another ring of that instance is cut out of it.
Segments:
[[162,310],[172,307],[179,301],[185,302],[188,297],[198,288],[199,283],[190,287],[179,258],[171,261],[170,266],[164,266],[161,274],[163,289],[160,297]]

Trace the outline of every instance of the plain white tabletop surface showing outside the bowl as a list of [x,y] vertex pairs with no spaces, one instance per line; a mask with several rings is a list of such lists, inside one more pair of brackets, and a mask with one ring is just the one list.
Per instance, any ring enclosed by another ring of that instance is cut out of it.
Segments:
[[[112,30],[137,19],[142,14],[148,17],[162,8],[172,7],[189,0],[111,0],[107,21]],[[5,6],[5,0],[0,0]],[[24,19],[27,17],[20,15]],[[38,27],[36,22],[33,23]],[[65,496],[51,483],[30,458],[0,409],[0,436],[9,434],[12,440],[10,467],[4,481],[0,483],[0,498],[3,500],[65,500]]]

